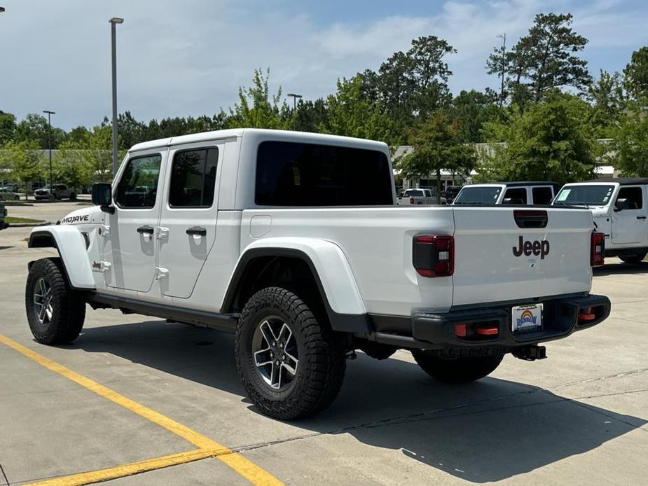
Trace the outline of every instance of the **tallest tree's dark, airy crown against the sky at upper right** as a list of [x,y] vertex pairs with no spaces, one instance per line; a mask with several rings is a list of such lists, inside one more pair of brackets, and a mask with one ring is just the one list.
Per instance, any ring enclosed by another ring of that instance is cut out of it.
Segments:
[[538,102],[554,88],[572,86],[585,89],[591,81],[587,61],[575,53],[588,40],[571,27],[571,13],[539,13],[526,36],[510,51],[495,48],[486,68],[489,74],[504,69],[511,100],[524,105]]

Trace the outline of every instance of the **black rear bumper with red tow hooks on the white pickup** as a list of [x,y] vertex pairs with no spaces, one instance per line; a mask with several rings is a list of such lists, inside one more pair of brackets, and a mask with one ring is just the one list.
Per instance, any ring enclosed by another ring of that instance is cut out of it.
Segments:
[[[605,296],[558,298],[544,300],[542,303],[544,304],[542,328],[535,331],[513,333],[511,330],[513,305],[506,305],[506,307],[482,307],[443,314],[418,312],[409,319],[409,330],[403,327],[396,330],[393,326],[391,329],[381,330],[374,319],[376,331],[366,337],[384,344],[418,349],[470,347],[510,349],[565,338],[575,331],[600,324],[607,319],[610,312],[610,302]],[[582,316],[586,313],[591,314],[588,320],[579,317],[579,314]],[[455,332],[457,324],[466,324],[469,330],[477,326],[496,327],[497,333],[478,335],[468,332],[468,335],[460,337]]]

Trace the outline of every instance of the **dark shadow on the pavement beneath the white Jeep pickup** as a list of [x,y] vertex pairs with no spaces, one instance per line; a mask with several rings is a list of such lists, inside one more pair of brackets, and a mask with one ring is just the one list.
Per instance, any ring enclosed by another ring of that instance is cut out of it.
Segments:
[[[249,403],[237,377],[232,335],[146,321],[84,329],[72,347],[114,354]],[[490,482],[588,452],[647,423],[508,380],[435,382],[404,361],[409,354],[396,356],[379,362],[359,354],[348,361],[340,396],[319,415],[291,422],[304,429],[296,436],[347,434],[457,478]],[[260,436],[258,442],[275,439]],[[303,454],[308,457],[308,451]]]

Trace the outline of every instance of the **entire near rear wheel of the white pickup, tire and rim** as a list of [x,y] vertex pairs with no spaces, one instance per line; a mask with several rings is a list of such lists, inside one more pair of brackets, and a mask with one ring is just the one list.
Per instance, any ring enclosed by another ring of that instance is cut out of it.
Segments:
[[326,322],[287,289],[252,296],[236,328],[236,366],[263,414],[291,420],[323,410],[345,373],[345,348]]

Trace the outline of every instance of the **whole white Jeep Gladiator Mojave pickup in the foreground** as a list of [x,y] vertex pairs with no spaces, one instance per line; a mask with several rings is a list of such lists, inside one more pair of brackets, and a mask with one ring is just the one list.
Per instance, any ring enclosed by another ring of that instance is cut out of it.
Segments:
[[60,255],[29,263],[36,340],[74,340],[86,304],[232,332],[244,389],[280,419],[329,405],[357,349],[409,349],[438,380],[478,380],[610,310],[590,294],[603,251],[590,211],[397,207],[377,141],[149,141],[92,200],[29,238]]

